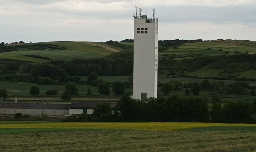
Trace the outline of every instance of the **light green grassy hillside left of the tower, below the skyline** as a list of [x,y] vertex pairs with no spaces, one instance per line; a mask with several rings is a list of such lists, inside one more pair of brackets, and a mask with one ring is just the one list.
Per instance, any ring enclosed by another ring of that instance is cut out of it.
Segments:
[[[29,50],[27,48],[19,48],[18,51],[0,53],[0,59],[21,59],[25,61],[44,62],[47,60],[27,57],[24,55],[40,55],[50,59],[92,59],[104,57],[114,53],[114,51],[107,50],[100,46],[94,46],[85,42],[42,42],[44,44],[54,44],[60,47],[65,47],[66,50]],[[102,43],[104,45],[104,43]],[[32,44],[23,44],[32,45]],[[117,48],[118,49],[118,48]]]

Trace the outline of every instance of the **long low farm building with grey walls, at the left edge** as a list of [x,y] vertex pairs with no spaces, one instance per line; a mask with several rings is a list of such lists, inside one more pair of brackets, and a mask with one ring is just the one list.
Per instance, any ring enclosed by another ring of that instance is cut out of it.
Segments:
[[0,104],[0,114],[28,114],[28,115],[55,115],[62,116],[69,114],[68,104],[22,104],[3,103]]

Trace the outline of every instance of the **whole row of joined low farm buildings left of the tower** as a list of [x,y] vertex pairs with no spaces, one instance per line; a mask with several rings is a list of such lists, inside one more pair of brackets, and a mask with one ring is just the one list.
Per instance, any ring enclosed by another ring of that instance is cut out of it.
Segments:
[[63,116],[69,114],[92,114],[98,104],[108,103],[115,109],[117,102],[102,101],[74,101],[71,104],[24,104],[24,103],[3,103],[0,104],[0,114],[28,114],[49,116]]

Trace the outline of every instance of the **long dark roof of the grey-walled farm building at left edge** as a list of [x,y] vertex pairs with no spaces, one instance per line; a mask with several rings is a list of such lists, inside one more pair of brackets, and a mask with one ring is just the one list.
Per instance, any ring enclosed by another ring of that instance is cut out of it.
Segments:
[[23,104],[23,103],[3,103],[0,108],[5,109],[51,109],[69,110],[68,104]]

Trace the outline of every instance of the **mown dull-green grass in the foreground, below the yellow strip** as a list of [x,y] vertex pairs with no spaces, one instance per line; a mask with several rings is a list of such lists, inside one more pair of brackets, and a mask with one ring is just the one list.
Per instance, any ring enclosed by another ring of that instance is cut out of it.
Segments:
[[[256,132],[83,130],[1,135],[1,151],[254,151]],[[15,141],[15,142],[14,142]]]

